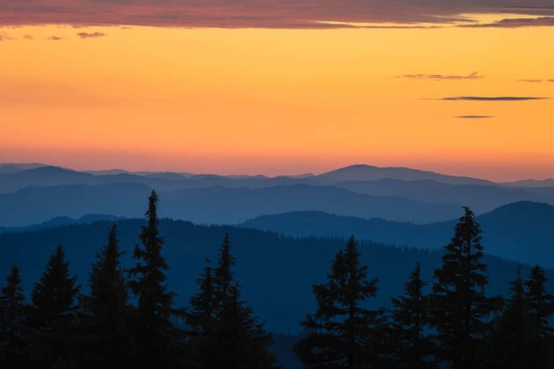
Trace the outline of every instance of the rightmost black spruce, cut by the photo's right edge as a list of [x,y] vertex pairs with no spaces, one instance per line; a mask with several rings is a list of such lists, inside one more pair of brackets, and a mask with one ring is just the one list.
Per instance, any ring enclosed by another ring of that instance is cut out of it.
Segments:
[[526,298],[529,303],[529,314],[534,326],[532,339],[532,364],[536,368],[554,367],[554,329],[550,319],[554,314],[554,295],[547,293],[545,269],[540,266],[531,268],[529,279],[526,280]]

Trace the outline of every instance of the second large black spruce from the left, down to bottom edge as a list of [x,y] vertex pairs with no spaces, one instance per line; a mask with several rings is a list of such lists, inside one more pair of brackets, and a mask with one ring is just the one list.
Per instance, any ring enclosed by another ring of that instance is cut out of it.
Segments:
[[76,365],[80,290],[76,283],[77,276],[70,276],[69,261],[58,245],[31,293],[30,324],[34,331],[29,332],[29,341],[33,347],[30,360],[34,367],[50,368],[60,363]]

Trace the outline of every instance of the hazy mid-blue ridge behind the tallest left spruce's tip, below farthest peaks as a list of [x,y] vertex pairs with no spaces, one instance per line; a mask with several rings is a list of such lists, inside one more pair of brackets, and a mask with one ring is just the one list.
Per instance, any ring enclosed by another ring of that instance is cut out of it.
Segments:
[[[39,223],[55,216],[79,217],[94,212],[140,217],[152,188],[144,184],[60,185],[29,187],[1,194],[3,226]],[[395,221],[435,222],[452,219],[459,206],[427,204],[394,196],[371,196],[331,186],[290,185],[268,188],[209,187],[158,191],[160,214],[206,224],[234,224],[252,217],[295,210],[320,210]]]

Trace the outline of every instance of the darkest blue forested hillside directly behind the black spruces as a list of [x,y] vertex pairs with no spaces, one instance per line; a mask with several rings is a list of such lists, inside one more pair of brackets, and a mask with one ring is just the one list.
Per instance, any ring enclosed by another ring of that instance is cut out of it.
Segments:
[[[28,294],[48,256],[61,243],[71,260],[71,273],[79,276],[79,282],[86,289],[90,263],[105,242],[107,230],[112,224],[100,221],[91,225],[0,235],[0,247],[3,249],[0,273],[5,275],[9,266],[17,262],[22,268],[23,286]],[[122,259],[126,266],[132,265],[131,252],[139,242],[137,235],[144,224],[145,221],[139,219],[117,222],[121,248],[127,251]],[[196,289],[196,278],[206,265],[206,258],[213,263],[220,241],[227,232],[232,237],[238,259],[236,272],[238,279],[243,281],[244,298],[258,315],[263,316],[270,330],[298,332],[297,322],[314,304],[311,284],[325,278],[332,255],[345,244],[346,237],[282,237],[278,233],[240,227],[204,226],[162,219],[160,233],[165,239],[165,256],[171,264],[167,275],[171,288],[178,292],[178,304],[184,304]],[[447,234],[444,243],[448,241]],[[360,251],[371,276],[379,278],[377,299],[371,302],[375,305],[388,305],[391,295],[402,292],[402,283],[416,262],[422,264],[425,279],[432,278],[433,270],[440,263],[438,250],[397,248],[361,240]],[[487,292],[506,293],[517,263],[491,256],[485,256],[485,260],[490,275]],[[524,266],[524,275],[528,271],[529,268]],[[549,275],[554,278],[554,274]]]

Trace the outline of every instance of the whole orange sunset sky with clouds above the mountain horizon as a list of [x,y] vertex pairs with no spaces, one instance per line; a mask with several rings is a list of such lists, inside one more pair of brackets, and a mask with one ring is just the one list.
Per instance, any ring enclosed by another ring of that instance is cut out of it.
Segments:
[[0,0],[0,162],[554,177],[554,3],[411,3]]

